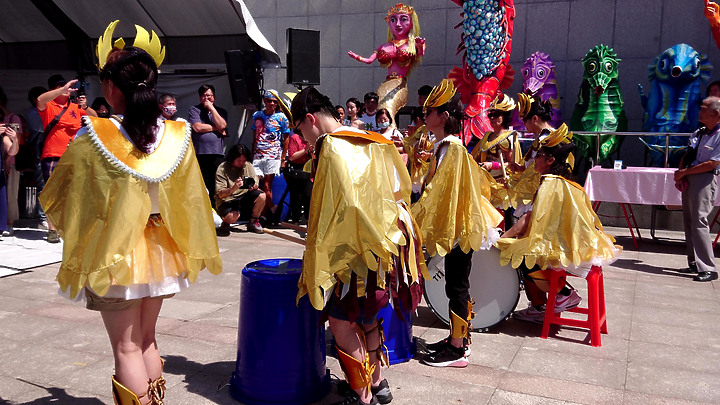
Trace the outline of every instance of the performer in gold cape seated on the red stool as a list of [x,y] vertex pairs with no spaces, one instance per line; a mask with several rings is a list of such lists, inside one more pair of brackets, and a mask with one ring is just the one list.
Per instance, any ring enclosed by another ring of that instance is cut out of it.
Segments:
[[[534,169],[542,176],[531,210],[497,242],[500,262],[519,268],[530,305],[514,314],[516,319],[543,323],[549,289],[549,272],[564,269],[579,277],[592,266],[612,263],[620,254],[612,236],[603,232],[590,199],[573,182],[568,156],[572,142],[559,136],[545,138],[535,155]],[[555,312],[576,307],[582,301],[577,291],[562,283]]]

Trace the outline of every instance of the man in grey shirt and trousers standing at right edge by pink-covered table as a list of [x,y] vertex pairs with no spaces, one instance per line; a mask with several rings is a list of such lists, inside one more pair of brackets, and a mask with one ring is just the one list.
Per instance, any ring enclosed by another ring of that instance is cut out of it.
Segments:
[[703,100],[698,115],[703,128],[690,137],[690,149],[675,172],[675,187],[682,191],[683,225],[689,268],[695,281],[718,278],[710,240],[708,215],[715,204],[720,164],[720,98]]

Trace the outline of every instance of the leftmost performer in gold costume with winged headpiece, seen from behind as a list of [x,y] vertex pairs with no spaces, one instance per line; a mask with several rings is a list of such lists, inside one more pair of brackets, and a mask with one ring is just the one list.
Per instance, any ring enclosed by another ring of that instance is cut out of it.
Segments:
[[61,293],[102,315],[115,402],[162,404],[155,324],[163,299],[203,268],[220,273],[222,261],[190,127],[160,119],[155,85],[165,50],[137,26],[134,46],[113,46],[117,23],[97,55],[103,95],[119,115],[85,118],[40,200],[65,241]]

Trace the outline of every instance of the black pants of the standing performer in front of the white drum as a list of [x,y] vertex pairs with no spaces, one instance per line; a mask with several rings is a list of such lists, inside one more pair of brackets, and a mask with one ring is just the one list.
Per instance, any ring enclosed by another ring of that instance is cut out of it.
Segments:
[[455,246],[445,256],[445,295],[450,299],[450,310],[467,319],[467,304],[470,302],[470,269],[473,251],[463,253]]

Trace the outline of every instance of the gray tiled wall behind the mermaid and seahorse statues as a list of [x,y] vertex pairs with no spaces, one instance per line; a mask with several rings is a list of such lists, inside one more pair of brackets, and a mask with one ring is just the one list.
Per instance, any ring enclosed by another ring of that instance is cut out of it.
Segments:
[[[384,80],[386,70],[377,62],[368,66],[347,56],[353,50],[368,56],[385,42],[386,11],[396,0],[245,0],[257,25],[285,63],[285,30],[320,30],[321,85],[318,88],[337,104],[361,98]],[[707,53],[720,68],[720,51],[703,16],[700,0],[516,0],[517,18],[511,62],[516,69],[535,51],[549,54],[557,65],[563,117],[572,114],[582,65],[580,60],[598,44],[611,46],[622,58],[620,84],[630,130],[640,130],[642,107],[637,84],[647,89],[647,65],[662,50],[681,42]],[[418,11],[427,54],[409,79],[409,104],[417,89],[436,84],[453,66],[461,64],[455,49],[460,41],[460,7],[449,0],[409,1]],[[717,71],[717,69],[715,69]],[[714,73],[713,79],[720,78]],[[285,70],[266,70],[268,88],[292,90]],[[521,86],[516,78],[510,89]]]

